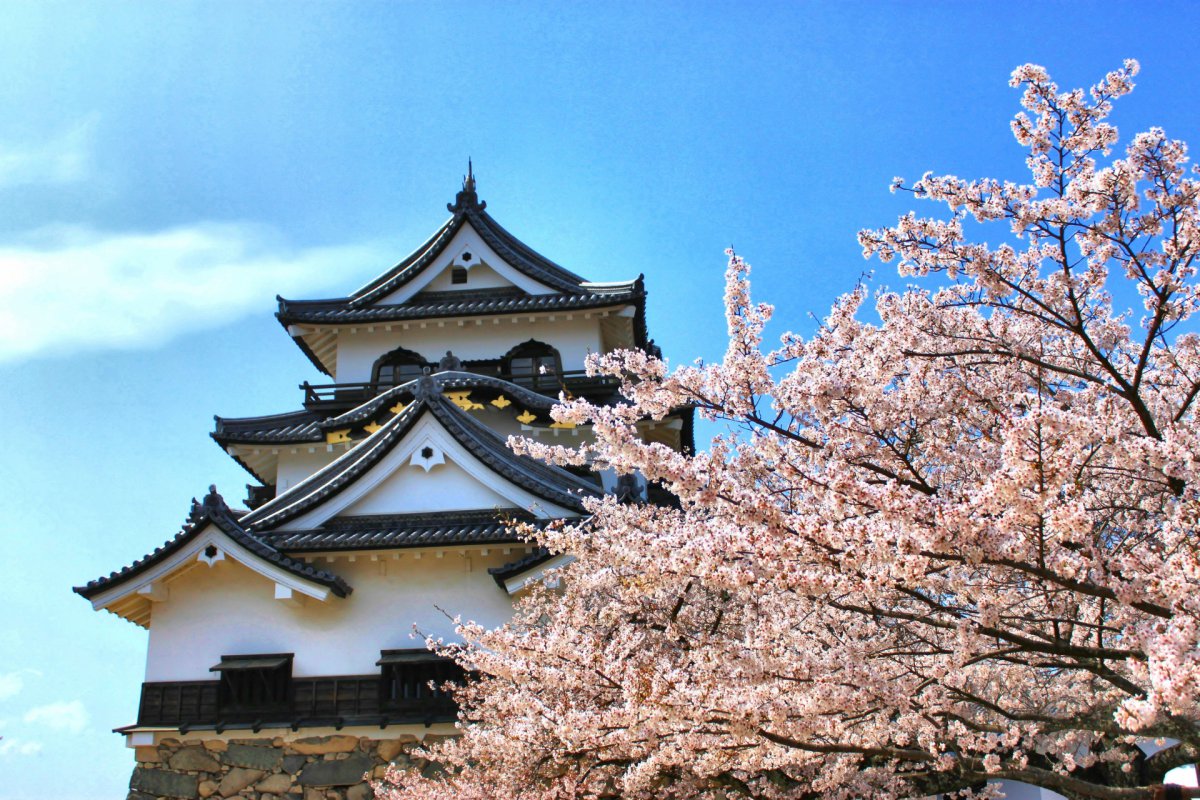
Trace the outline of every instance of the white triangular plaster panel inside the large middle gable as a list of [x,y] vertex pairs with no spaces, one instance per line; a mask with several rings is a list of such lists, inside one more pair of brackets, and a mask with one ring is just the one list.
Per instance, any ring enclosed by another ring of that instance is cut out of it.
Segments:
[[402,467],[341,513],[427,513],[512,507],[511,500],[476,481],[463,468],[445,463],[431,468],[428,473],[421,467]]

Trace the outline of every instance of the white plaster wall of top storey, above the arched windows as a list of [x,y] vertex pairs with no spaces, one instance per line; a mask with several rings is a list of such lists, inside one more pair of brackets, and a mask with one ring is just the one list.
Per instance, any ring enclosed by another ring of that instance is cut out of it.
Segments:
[[460,359],[498,359],[517,344],[529,339],[545,342],[558,349],[564,369],[582,369],[588,353],[599,353],[600,318],[584,319],[572,312],[571,319],[558,315],[554,321],[528,317],[487,317],[462,320],[428,320],[409,323],[408,330],[392,324],[392,330],[366,327],[352,333],[342,329],[337,337],[337,383],[371,380],[371,367],[384,353],[404,347],[437,363],[446,350]]

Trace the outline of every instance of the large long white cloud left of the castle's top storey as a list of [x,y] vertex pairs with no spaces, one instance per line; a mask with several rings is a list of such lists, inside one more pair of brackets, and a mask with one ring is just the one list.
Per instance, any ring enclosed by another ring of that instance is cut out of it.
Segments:
[[342,293],[389,263],[378,246],[293,248],[246,224],[44,228],[0,243],[0,362],[156,345],[270,313],[277,293]]

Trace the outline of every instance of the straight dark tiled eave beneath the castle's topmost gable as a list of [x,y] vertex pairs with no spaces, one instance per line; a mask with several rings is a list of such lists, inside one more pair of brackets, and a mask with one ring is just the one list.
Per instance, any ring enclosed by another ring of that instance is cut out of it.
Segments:
[[[433,293],[430,293],[433,294]],[[359,306],[347,297],[332,300],[280,300],[276,313],[284,325],[294,323],[395,323],[439,317],[479,317],[482,314],[517,314],[551,311],[586,311],[623,303],[643,303],[646,291],[641,279],[623,284],[620,290],[589,291],[587,294],[540,294],[500,289],[497,291],[445,291],[426,300],[414,296],[404,303],[386,306]]]

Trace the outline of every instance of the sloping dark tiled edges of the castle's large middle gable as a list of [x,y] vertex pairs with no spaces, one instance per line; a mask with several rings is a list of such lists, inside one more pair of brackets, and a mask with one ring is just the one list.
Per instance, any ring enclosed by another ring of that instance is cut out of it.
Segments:
[[378,464],[426,413],[492,471],[544,500],[582,511],[582,498],[600,493],[598,486],[564,469],[514,453],[496,433],[443,397],[438,378],[426,375],[404,410],[344,456],[247,513],[242,524],[251,530],[271,530],[320,505]]

